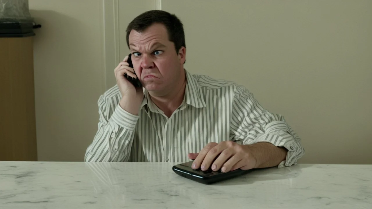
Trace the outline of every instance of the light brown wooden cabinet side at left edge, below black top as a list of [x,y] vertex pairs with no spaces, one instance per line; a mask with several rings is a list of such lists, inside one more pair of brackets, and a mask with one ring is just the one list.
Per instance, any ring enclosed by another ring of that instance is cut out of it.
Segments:
[[0,38],[0,161],[37,161],[33,36]]

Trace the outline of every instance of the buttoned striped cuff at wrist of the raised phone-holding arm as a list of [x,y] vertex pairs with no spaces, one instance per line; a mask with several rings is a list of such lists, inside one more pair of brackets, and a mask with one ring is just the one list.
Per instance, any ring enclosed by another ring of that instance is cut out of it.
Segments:
[[127,112],[120,105],[118,105],[111,115],[110,125],[112,130],[114,130],[115,132],[118,130],[119,126],[133,131],[137,125],[137,121],[139,118],[140,116],[133,115],[132,113]]

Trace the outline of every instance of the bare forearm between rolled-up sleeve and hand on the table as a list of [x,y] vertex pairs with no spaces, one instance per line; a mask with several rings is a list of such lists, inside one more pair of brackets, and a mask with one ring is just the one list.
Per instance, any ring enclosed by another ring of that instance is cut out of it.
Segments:
[[276,147],[268,142],[258,142],[246,146],[249,147],[251,154],[256,159],[255,168],[278,166],[280,162],[286,159],[288,152],[286,148]]

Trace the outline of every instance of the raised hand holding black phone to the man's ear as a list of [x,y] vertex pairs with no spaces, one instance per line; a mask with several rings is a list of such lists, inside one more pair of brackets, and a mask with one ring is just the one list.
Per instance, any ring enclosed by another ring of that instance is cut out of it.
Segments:
[[142,87],[134,87],[133,84],[125,78],[125,73],[132,78],[137,78],[133,68],[129,67],[128,62],[126,62],[127,60],[128,55],[119,63],[118,67],[115,68],[116,84],[118,84],[122,95],[119,105],[125,111],[133,115],[138,115],[138,110],[140,109],[144,94]]

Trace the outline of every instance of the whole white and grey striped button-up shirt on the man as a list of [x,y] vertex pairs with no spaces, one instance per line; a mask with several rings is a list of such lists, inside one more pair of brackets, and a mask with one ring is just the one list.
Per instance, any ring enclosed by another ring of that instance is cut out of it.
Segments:
[[[186,70],[185,70],[186,71]],[[119,105],[115,85],[99,97],[98,131],[85,161],[185,162],[209,142],[269,142],[288,149],[279,167],[304,154],[301,139],[278,114],[259,105],[244,86],[206,75],[186,74],[185,98],[168,118],[144,90],[138,115]]]

